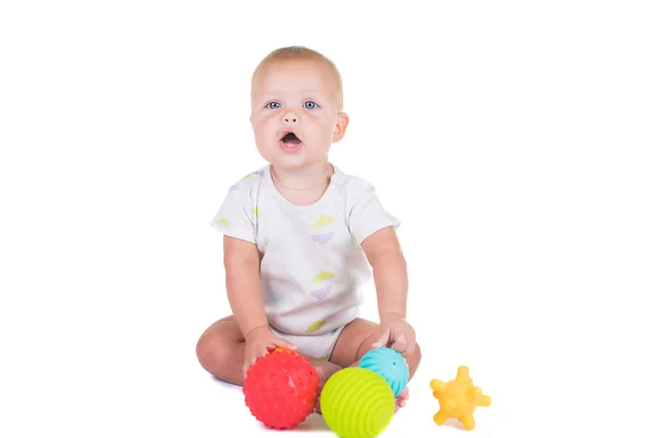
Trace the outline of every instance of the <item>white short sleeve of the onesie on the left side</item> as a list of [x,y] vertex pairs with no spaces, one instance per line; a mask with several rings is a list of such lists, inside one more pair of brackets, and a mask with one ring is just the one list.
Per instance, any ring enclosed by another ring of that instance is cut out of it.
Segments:
[[233,186],[212,218],[210,227],[231,238],[255,243],[249,195]]

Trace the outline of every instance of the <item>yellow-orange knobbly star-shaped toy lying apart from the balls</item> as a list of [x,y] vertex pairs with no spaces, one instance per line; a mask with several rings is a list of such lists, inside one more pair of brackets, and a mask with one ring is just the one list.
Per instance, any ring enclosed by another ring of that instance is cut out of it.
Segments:
[[434,396],[438,399],[440,410],[434,416],[434,422],[440,426],[447,418],[457,418],[465,430],[474,428],[472,414],[477,406],[489,406],[491,397],[482,395],[482,389],[472,384],[470,370],[465,366],[459,367],[457,378],[445,383],[438,379],[431,380],[430,387]]

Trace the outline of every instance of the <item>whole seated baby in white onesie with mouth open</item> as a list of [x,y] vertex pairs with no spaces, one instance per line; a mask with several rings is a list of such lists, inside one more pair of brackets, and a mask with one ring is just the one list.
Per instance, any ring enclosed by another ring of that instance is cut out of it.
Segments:
[[[413,377],[420,351],[406,321],[400,222],[371,184],[327,158],[349,122],[339,72],[315,50],[274,50],[253,73],[251,108],[255,145],[268,164],[230,187],[211,222],[223,233],[233,314],[198,339],[200,365],[242,385],[258,357],[289,348],[313,364],[323,385],[387,346],[406,358]],[[358,318],[371,273],[379,324]],[[407,399],[406,389],[396,407]]]

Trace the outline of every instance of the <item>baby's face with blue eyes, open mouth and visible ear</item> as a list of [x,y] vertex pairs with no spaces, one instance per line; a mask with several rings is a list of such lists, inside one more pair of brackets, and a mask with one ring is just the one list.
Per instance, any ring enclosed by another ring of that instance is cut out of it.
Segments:
[[280,61],[255,78],[251,124],[260,153],[275,166],[325,162],[347,122],[338,113],[335,78],[320,62]]

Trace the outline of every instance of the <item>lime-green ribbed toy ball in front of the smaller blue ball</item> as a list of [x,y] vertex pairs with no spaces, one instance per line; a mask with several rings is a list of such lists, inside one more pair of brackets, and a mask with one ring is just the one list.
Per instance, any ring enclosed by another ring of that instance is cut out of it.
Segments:
[[394,416],[394,394],[373,371],[344,368],[328,378],[320,397],[326,425],[343,438],[373,438]]

